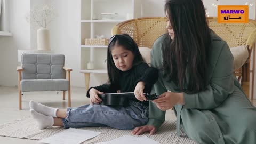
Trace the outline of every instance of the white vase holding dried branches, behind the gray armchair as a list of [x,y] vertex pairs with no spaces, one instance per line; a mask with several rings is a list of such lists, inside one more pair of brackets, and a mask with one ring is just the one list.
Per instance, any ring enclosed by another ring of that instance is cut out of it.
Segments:
[[50,47],[50,33],[49,29],[39,28],[37,29],[37,49],[38,50],[51,50]]

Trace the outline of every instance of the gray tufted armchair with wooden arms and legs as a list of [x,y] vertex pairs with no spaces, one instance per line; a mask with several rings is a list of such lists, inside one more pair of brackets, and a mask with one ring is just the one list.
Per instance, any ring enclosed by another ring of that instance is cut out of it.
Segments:
[[[21,92],[63,91],[63,100],[68,91],[68,107],[71,107],[70,71],[64,67],[65,56],[55,54],[22,54],[19,74],[19,109]],[[68,78],[66,79],[66,73]]]

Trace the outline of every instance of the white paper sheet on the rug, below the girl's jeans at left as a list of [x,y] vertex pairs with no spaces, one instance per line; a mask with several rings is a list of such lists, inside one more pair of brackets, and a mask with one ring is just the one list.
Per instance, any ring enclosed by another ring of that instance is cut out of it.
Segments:
[[66,131],[54,134],[49,138],[40,140],[39,142],[54,144],[79,144],[83,141],[96,137],[100,133],[101,132],[69,128]]

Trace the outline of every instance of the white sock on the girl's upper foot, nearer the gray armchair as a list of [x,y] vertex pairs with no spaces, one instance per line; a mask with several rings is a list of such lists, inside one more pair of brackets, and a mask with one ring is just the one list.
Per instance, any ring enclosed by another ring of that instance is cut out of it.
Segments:
[[31,109],[34,109],[38,113],[44,114],[46,116],[57,117],[56,113],[57,113],[58,108],[47,107],[47,106],[42,105],[41,103],[35,102],[33,100],[30,100],[29,107]]

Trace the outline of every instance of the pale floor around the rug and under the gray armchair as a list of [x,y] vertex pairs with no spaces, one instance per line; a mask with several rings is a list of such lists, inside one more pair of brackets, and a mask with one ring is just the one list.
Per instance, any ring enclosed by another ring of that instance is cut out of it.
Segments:
[[[66,94],[67,97],[67,94]],[[29,101],[34,100],[50,107],[66,108],[67,100],[62,100],[62,92],[25,92],[22,96],[22,110],[18,109],[18,88],[0,86],[0,124],[29,116]],[[253,101],[254,105],[256,100]],[[85,89],[71,88],[71,106],[89,104]],[[165,119],[176,119],[173,110],[166,111]],[[0,137],[0,143],[38,143],[36,140]]]

